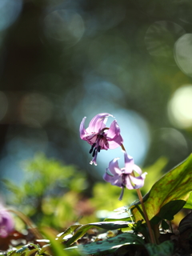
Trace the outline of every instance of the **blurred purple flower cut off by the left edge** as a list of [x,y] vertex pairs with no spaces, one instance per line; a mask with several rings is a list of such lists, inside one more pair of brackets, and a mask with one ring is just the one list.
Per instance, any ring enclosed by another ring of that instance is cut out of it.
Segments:
[[0,237],[6,238],[14,230],[14,219],[11,214],[0,206]]

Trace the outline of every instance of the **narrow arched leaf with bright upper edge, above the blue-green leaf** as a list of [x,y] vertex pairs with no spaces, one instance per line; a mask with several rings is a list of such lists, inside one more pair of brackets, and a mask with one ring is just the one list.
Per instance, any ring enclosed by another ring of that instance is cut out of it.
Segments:
[[72,238],[70,238],[66,242],[66,246],[70,246],[72,243],[78,240],[78,238],[81,238],[84,234],[86,234],[87,230],[90,230],[93,227],[99,227],[105,230],[118,230],[125,227],[128,227],[129,222],[94,222],[90,224],[83,225],[79,227],[75,232]]

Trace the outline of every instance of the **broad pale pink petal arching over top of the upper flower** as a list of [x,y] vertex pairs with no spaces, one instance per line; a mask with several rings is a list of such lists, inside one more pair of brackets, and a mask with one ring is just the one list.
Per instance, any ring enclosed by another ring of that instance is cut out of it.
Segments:
[[89,132],[98,134],[103,128],[106,127],[107,118],[110,116],[113,117],[111,114],[108,114],[108,113],[97,114],[90,121],[90,124],[88,127]]

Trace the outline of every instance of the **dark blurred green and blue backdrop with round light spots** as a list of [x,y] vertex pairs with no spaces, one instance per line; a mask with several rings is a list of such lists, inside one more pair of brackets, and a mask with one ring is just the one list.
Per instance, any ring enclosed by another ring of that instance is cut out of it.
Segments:
[[102,112],[117,119],[143,170],[182,162],[192,151],[191,10],[190,0],[0,0],[1,178],[19,186],[23,161],[55,159],[75,166],[92,196],[110,160],[122,158],[103,150],[89,164],[79,124]]

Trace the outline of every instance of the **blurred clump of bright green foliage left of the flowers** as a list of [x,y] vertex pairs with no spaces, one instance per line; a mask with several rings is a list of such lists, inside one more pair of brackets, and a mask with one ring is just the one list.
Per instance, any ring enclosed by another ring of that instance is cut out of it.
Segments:
[[22,162],[24,179],[21,185],[4,180],[13,192],[8,198],[38,225],[55,228],[75,222],[80,216],[74,210],[86,188],[86,178],[75,166],[66,166],[44,154]]

